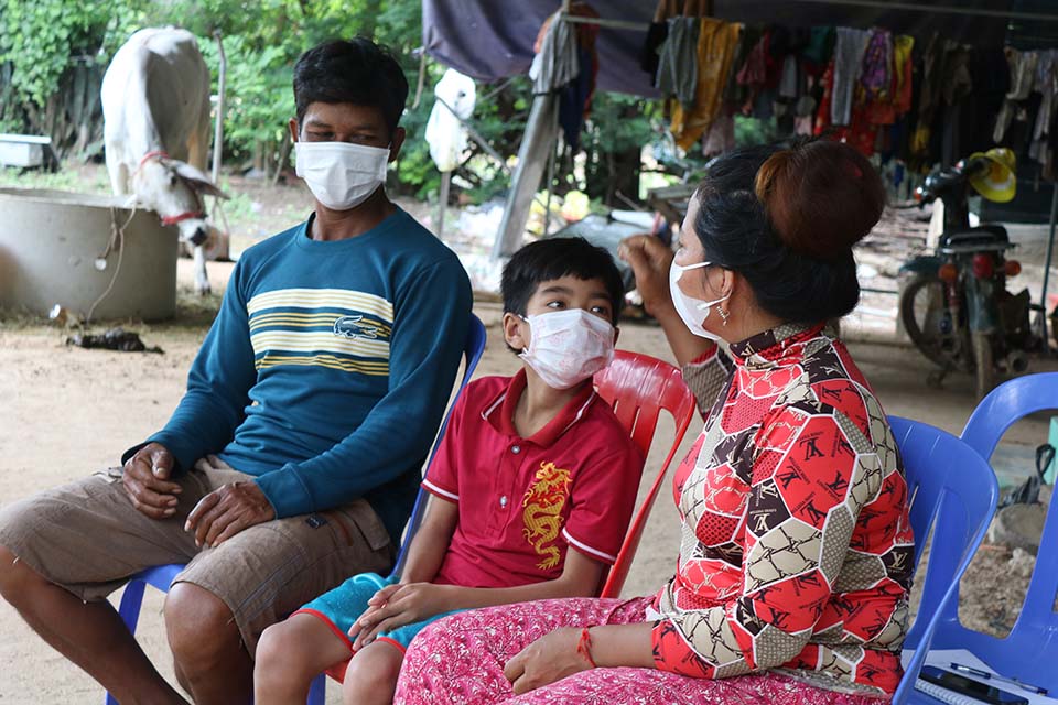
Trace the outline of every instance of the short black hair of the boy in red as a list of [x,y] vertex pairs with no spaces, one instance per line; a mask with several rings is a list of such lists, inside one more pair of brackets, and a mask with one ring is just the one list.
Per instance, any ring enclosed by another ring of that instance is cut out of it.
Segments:
[[616,325],[625,305],[625,282],[609,252],[584,238],[538,240],[515,252],[499,284],[504,313],[526,315],[529,300],[540,284],[568,275],[602,280],[613,310],[611,323]]

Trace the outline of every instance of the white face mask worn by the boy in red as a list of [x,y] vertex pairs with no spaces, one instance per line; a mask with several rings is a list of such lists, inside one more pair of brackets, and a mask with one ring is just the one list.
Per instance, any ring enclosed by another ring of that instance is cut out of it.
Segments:
[[583,308],[525,317],[529,347],[518,356],[552,389],[569,389],[614,359],[614,326]]

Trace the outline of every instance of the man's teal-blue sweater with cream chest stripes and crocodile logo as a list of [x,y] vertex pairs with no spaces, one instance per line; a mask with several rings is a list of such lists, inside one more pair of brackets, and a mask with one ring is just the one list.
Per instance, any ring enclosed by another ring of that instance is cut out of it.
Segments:
[[458,369],[469,281],[403,210],[337,241],[312,240],[310,221],[239,258],[187,392],[148,442],[180,468],[216,454],[257,476],[279,518],[364,497],[398,538]]

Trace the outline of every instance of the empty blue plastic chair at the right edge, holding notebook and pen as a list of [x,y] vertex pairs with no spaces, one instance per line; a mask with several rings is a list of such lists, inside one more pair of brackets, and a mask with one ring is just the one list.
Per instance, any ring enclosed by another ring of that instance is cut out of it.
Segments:
[[[990,458],[1000,438],[1015,421],[1058,408],[1058,372],[1028,375],[996,387],[970,414],[962,438],[981,457]],[[965,649],[996,673],[1058,692],[1058,511],[1051,505],[1044,521],[1036,567],[1025,603],[1011,633],[1000,639],[959,623],[959,585],[939,615],[933,649]],[[1007,688],[1010,690],[1010,688]]]

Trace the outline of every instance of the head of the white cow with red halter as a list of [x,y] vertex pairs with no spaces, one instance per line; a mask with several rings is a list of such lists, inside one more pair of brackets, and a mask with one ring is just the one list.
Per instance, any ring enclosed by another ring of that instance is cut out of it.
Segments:
[[151,152],[132,174],[132,191],[145,206],[162,216],[164,225],[180,228],[180,239],[202,245],[208,237],[204,195],[227,198],[201,171],[170,159],[164,152]]

